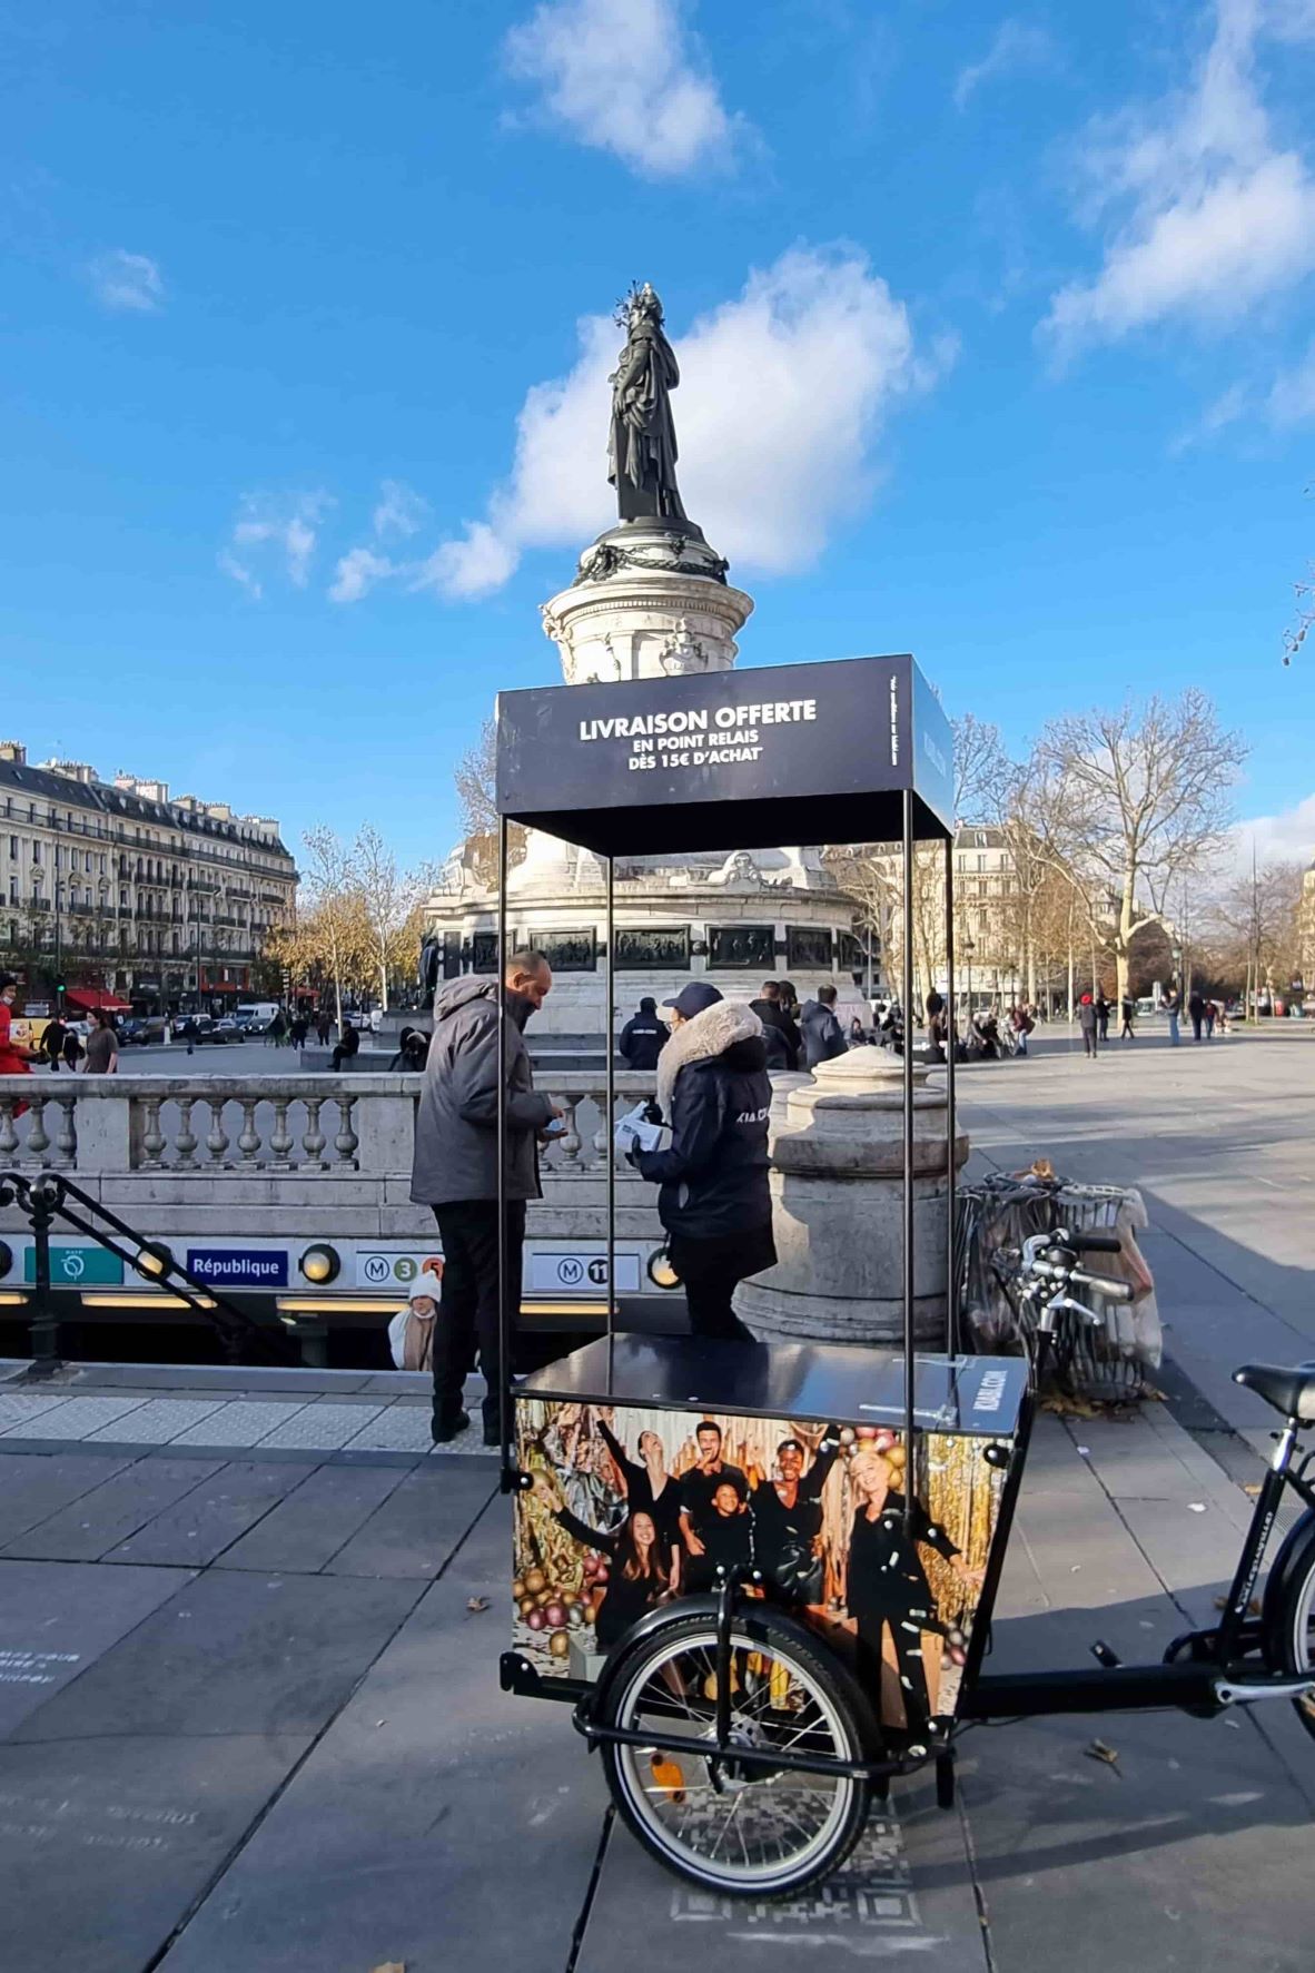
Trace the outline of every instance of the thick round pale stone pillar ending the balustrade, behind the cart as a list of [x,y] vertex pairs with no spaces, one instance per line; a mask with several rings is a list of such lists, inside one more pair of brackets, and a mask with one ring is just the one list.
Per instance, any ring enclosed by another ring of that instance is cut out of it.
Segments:
[[[944,1089],[913,1067],[913,1225],[919,1344],[944,1350]],[[785,1115],[781,1113],[785,1111]],[[968,1158],[958,1133],[954,1162]],[[777,1265],[735,1290],[763,1338],[899,1344],[903,1336],[903,1061],[852,1048],[773,1101]]]

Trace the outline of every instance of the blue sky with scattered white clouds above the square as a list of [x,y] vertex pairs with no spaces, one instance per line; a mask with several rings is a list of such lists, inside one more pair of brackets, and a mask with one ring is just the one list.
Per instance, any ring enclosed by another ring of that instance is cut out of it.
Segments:
[[0,61],[32,758],[442,854],[639,276],[741,663],[913,649],[1015,742],[1203,683],[1315,848],[1315,0],[45,0]]

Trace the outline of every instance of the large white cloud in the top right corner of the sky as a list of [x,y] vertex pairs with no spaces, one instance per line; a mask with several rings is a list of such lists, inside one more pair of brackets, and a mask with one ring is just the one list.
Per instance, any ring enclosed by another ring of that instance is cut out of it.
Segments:
[[1315,268],[1315,180],[1276,148],[1254,73],[1262,30],[1293,39],[1311,26],[1305,0],[1274,14],[1216,0],[1191,87],[1096,136],[1094,209],[1124,217],[1096,280],[1053,298],[1043,331],[1061,351],[1175,314],[1230,322]]

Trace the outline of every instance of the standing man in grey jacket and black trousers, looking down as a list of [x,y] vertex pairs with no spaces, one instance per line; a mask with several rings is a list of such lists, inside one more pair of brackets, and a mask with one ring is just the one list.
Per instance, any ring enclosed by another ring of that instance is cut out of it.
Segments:
[[444,1288],[434,1326],[434,1444],[469,1425],[461,1385],[475,1359],[487,1395],[483,1436],[499,1444],[497,1304],[497,1028],[507,1022],[507,1302],[520,1312],[524,1202],[540,1196],[536,1138],[562,1113],[534,1093],[524,1024],[552,988],[542,953],[513,953],[495,979],[450,981],[434,1000],[434,1040],[416,1111],[410,1196],[432,1206],[444,1241]]

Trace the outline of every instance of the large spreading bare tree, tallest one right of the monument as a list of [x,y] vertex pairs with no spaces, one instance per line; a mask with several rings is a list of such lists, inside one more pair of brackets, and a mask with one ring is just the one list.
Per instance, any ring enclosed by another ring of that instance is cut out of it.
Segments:
[[1122,1000],[1136,933],[1163,919],[1173,878],[1222,840],[1248,748],[1189,687],[1177,702],[1053,720],[1039,752],[1065,789],[1071,860],[1110,896]]

